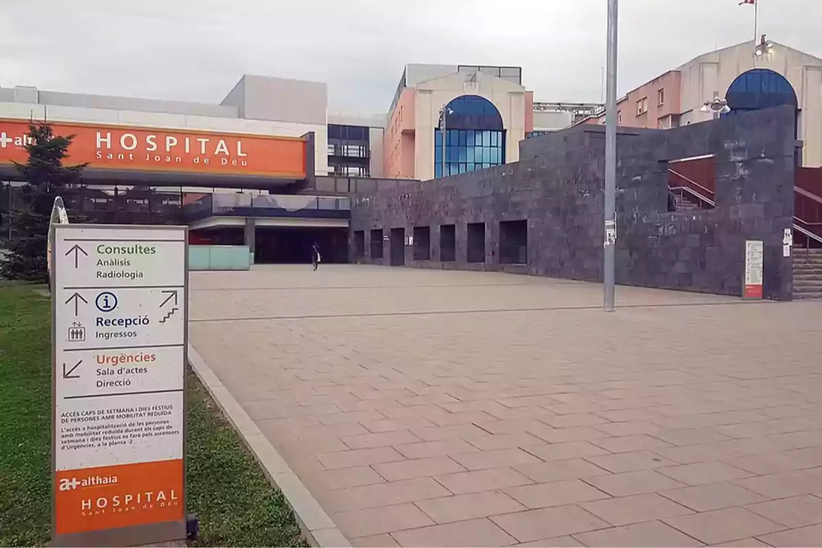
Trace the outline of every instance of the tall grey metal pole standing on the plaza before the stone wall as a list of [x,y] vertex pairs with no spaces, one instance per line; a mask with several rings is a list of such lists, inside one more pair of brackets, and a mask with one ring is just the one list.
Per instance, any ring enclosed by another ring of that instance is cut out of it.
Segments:
[[605,101],[605,242],[603,308],[614,304],[617,264],[617,18],[618,0],[608,0],[607,82]]

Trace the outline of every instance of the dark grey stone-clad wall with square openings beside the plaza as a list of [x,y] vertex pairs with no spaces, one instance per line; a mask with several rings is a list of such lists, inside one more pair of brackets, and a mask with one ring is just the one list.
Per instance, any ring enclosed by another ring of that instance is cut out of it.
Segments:
[[[622,129],[617,140],[617,283],[741,295],[745,242],[764,242],[764,297],[792,298],[794,113],[770,108],[672,130]],[[496,168],[353,197],[351,230],[430,227],[423,268],[485,269],[603,279],[604,127],[579,126],[520,143],[523,159]],[[716,207],[667,212],[667,162],[713,154]],[[528,260],[502,265],[499,223],[528,221]],[[485,223],[485,261],[467,262],[467,224]],[[440,226],[456,226],[456,260],[441,262]],[[387,233],[387,232],[386,232]],[[353,248],[353,246],[352,246]],[[396,262],[396,261],[395,261]]]

